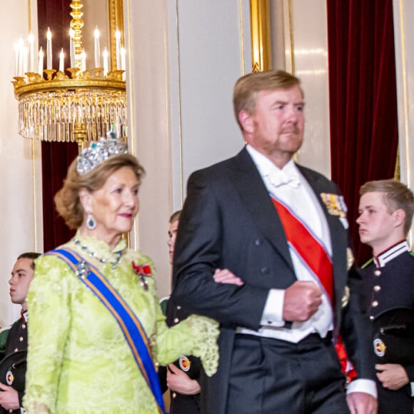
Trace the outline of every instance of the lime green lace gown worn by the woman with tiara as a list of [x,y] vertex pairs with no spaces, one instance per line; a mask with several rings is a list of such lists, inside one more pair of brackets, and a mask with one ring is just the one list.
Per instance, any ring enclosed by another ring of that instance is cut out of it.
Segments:
[[[96,257],[113,259],[123,251],[121,263],[98,266],[141,320],[151,340],[154,363],[166,365],[180,355],[200,356],[206,373],[218,363],[218,325],[191,316],[167,327],[156,296],[153,276],[145,290],[131,262],[148,264],[150,258],[118,243],[113,251],[96,238],[81,245]],[[64,247],[97,266],[74,241]],[[158,413],[131,349],[116,320],[69,266],[56,256],[36,260],[29,296],[29,355],[24,406],[28,413]]]

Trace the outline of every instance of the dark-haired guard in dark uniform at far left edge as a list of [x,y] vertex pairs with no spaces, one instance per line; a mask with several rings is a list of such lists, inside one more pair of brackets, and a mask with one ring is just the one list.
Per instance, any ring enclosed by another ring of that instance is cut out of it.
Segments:
[[21,306],[21,318],[9,330],[5,358],[0,361],[0,413],[20,413],[23,407],[29,318],[26,296],[33,279],[34,260],[39,256],[40,253],[22,253],[11,271],[10,298]]

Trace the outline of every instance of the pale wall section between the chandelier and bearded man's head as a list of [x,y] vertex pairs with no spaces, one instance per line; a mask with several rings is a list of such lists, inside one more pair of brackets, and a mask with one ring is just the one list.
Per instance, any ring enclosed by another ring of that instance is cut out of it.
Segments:
[[[139,3],[139,4],[137,4]],[[158,268],[170,290],[169,215],[185,196],[188,175],[243,146],[232,90],[251,68],[248,1],[126,1],[129,133],[147,174],[133,245]]]

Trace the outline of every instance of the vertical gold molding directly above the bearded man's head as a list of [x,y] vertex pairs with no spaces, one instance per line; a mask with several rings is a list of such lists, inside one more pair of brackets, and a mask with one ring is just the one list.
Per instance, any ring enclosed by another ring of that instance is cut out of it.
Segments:
[[271,59],[271,16],[269,0],[250,0],[252,71],[268,71]]

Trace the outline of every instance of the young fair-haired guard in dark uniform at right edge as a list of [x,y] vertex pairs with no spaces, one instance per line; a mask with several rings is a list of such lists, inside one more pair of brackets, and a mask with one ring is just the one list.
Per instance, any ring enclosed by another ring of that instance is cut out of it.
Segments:
[[[368,181],[360,188],[358,211],[360,241],[373,249],[373,258],[360,273],[369,298],[370,320],[375,323],[387,310],[414,309],[414,257],[407,241],[413,221],[413,193],[398,181]],[[377,355],[390,351],[380,345],[373,348]],[[414,365],[377,363],[375,368],[378,413],[413,414]]]

